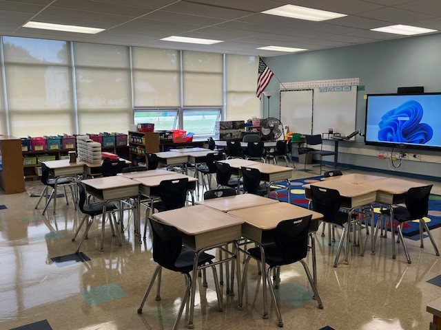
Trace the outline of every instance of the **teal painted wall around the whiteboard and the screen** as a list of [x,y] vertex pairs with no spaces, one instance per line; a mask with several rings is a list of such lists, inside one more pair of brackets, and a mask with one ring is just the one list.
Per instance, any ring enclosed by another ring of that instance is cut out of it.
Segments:
[[[365,86],[365,91],[358,91],[356,127],[364,131],[365,94],[396,93],[398,87],[409,86],[424,86],[426,92],[441,91],[441,34],[274,56],[265,58],[265,63],[282,83],[360,78],[360,85]],[[267,90],[279,90],[278,80],[273,78]],[[279,116],[279,104],[278,98],[271,98],[271,116]],[[391,151],[390,148],[365,146],[362,137],[357,137],[356,143],[345,143],[354,149]],[[441,177],[441,164],[434,163],[437,162],[436,157],[441,155],[440,152],[409,150],[409,153],[420,153],[422,159],[427,155],[427,159],[433,162],[403,161],[398,172]],[[339,157],[339,162],[389,169],[384,159],[373,156],[347,153]],[[441,163],[441,156],[438,162]]]

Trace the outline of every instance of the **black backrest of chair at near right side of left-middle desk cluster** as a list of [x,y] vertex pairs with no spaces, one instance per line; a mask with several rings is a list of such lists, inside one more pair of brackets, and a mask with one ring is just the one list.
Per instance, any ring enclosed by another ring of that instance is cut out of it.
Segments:
[[163,180],[159,184],[159,197],[166,210],[183,208],[187,200],[188,178]]

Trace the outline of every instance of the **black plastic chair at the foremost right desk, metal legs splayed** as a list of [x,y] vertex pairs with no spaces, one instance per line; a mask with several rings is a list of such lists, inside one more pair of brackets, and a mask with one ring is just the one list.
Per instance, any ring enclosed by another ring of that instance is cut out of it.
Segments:
[[[309,284],[314,291],[314,298],[317,300],[318,308],[323,308],[322,300],[320,300],[316,285],[314,284],[314,280],[309,272],[309,267],[303,260],[307,256],[308,251],[308,230],[310,222],[311,215],[298,219],[280,221],[276,227],[276,230],[274,230],[274,242],[263,245],[263,250],[265,252],[265,263],[269,265],[266,272],[267,283],[269,286],[269,292],[271,292],[274,307],[276,309],[279,327],[283,327],[283,320],[277,304],[276,294],[274,293],[275,285],[271,283],[271,270],[274,270],[275,268],[278,269],[280,266],[290,265],[300,261],[307,274]],[[262,260],[260,248],[251,248],[248,250],[248,254],[249,255],[247,256],[243,270],[243,284],[241,287],[242,292],[246,283],[249,259],[253,257],[258,261]],[[279,272],[277,272],[277,274],[279,274]],[[277,287],[280,277],[277,276],[275,281],[277,283]]]

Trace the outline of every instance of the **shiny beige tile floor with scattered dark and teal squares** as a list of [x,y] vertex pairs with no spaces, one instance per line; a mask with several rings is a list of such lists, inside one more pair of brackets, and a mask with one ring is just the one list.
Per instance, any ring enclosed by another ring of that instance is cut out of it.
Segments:
[[[294,170],[293,179],[308,176],[315,175]],[[41,208],[34,210],[37,197],[30,197],[39,191],[38,182],[27,181],[26,186],[28,192],[0,195],[0,205],[6,206],[0,209],[0,329],[172,329],[184,291],[181,274],[163,271],[162,300],[151,294],[143,314],[136,313],[156,266],[150,236],[137,243],[130,223],[120,247],[109,227],[105,250],[99,252],[97,221],[81,248],[84,255],[75,260],[77,242],[71,238],[81,212],[59,202],[56,215],[50,207],[43,216]],[[441,185],[435,184],[432,192],[440,194]],[[440,230],[433,230],[433,236],[441,247]],[[378,240],[376,255],[360,256],[351,247],[349,265],[340,262],[337,268],[332,261],[338,241],[329,247],[327,237],[318,234],[316,242],[324,309],[311,299],[301,265],[283,267],[278,299],[285,329],[429,329],[426,305],[441,296],[440,257],[429,241],[423,250],[418,241],[407,239],[411,265],[401,247],[397,259],[391,259],[389,236]],[[271,305],[269,319],[262,318],[256,263],[250,263],[241,311],[237,295],[225,293],[224,311],[216,310],[209,273],[208,287],[198,287],[195,329],[277,329]],[[185,329],[184,318],[179,328]]]

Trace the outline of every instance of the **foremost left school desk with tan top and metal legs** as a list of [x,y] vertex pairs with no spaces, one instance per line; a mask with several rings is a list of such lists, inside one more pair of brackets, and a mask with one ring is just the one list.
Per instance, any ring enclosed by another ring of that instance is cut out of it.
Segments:
[[[188,327],[194,327],[194,298],[196,293],[196,279],[197,279],[197,264],[199,255],[212,248],[218,248],[230,242],[235,242],[241,237],[242,219],[208,208],[203,205],[189,206],[186,208],[179,208],[177,210],[170,210],[165,212],[158,212],[153,214],[154,219],[163,221],[170,225],[174,225],[181,232],[183,243],[189,248],[195,250],[194,266],[192,272],[192,292],[190,311],[188,319]],[[240,298],[240,258],[238,258],[237,243],[234,243],[234,256],[236,259],[236,276],[238,280],[238,292]],[[225,259],[226,262],[232,258]],[[239,306],[240,308],[241,306]]]

